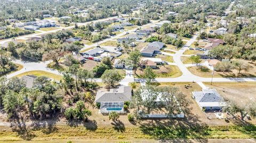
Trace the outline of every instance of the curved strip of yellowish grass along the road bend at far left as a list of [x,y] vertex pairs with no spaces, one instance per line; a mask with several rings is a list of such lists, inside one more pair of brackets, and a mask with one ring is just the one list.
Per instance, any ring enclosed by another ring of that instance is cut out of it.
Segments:
[[16,75],[16,77],[22,77],[23,75],[29,75],[29,74],[36,75],[37,77],[45,76],[45,77],[52,78],[54,80],[60,80],[62,78],[61,75],[57,75],[57,74],[46,72],[46,71],[28,71],[28,72],[24,72]]

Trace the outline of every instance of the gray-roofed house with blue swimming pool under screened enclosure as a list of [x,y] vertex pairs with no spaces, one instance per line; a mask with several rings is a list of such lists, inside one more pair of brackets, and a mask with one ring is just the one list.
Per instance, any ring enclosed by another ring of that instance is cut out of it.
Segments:
[[126,113],[124,110],[124,102],[130,101],[132,98],[132,89],[129,86],[120,86],[109,91],[98,91],[95,103],[100,103],[99,112],[108,114],[111,111],[117,113]]

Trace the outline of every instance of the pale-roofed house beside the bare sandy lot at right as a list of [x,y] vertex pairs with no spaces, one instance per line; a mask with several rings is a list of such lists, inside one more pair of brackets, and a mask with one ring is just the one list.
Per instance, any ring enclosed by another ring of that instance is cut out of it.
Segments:
[[202,110],[221,110],[226,105],[223,97],[215,89],[193,91],[192,95]]

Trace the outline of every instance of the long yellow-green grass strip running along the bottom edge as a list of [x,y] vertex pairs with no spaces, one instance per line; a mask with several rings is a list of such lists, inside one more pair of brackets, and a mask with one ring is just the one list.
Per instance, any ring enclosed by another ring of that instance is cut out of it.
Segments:
[[181,125],[151,125],[142,124],[140,127],[129,127],[120,131],[116,128],[98,127],[91,129],[86,127],[69,127],[59,125],[47,129],[29,130],[28,135],[18,134],[11,130],[1,130],[1,141],[22,141],[29,142],[63,140],[72,141],[76,139],[207,139],[207,138],[256,138],[255,125],[233,125],[233,126],[201,126],[182,127]]

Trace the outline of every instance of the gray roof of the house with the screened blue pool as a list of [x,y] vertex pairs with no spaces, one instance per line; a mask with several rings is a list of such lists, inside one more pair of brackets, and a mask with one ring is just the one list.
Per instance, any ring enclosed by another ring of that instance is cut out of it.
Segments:
[[95,102],[126,102],[131,100],[132,89],[129,86],[121,86],[110,91],[98,91]]

